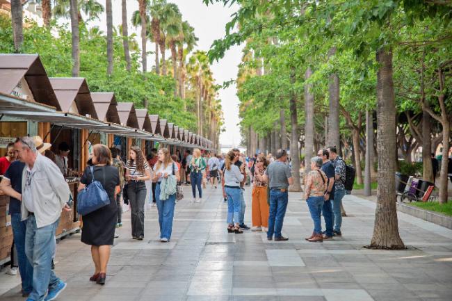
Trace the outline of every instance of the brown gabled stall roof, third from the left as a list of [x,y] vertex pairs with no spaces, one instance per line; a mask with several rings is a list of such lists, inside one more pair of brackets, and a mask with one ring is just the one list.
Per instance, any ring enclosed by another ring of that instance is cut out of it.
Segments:
[[91,92],[92,103],[97,113],[97,119],[103,122],[120,124],[118,103],[113,92]]

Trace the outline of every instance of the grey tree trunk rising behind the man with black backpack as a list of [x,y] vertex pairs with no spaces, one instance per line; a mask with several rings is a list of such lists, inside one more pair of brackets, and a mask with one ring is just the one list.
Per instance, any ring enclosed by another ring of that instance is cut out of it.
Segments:
[[[328,56],[336,54],[336,47],[328,52]],[[339,154],[341,154],[340,136],[339,136],[339,75],[333,73],[330,76],[328,84],[328,92],[330,95],[330,111],[328,115],[328,145],[336,146]]]

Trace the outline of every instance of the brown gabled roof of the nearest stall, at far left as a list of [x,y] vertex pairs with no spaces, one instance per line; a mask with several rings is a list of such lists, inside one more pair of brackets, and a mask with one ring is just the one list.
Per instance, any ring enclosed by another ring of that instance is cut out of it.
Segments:
[[[61,110],[38,54],[0,54],[0,92],[12,94],[22,79],[36,102]],[[21,89],[28,90],[26,87]]]

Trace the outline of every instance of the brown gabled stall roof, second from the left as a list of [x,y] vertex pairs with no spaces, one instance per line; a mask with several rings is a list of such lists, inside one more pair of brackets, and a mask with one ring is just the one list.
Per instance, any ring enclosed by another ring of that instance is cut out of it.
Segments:
[[[90,89],[83,77],[54,77],[50,78],[56,99],[62,112],[70,112],[82,116],[90,115],[97,119],[96,109],[92,103]],[[76,111],[74,110],[76,106]]]

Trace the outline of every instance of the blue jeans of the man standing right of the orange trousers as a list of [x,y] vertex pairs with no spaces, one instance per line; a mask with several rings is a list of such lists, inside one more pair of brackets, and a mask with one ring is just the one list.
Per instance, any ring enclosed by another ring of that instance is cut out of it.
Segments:
[[287,202],[289,201],[287,192],[282,193],[279,189],[270,190],[270,215],[268,215],[267,237],[282,237],[281,230],[286,215]]

